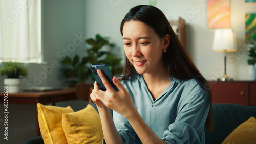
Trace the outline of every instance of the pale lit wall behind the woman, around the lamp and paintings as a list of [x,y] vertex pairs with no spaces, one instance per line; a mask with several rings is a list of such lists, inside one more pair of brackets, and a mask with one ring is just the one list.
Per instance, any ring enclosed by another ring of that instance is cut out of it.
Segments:
[[[86,1],[86,36],[100,33],[110,36],[123,47],[119,32],[120,22],[132,7],[148,5],[150,1],[88,0]],[[207,28],[205,0],[161,0],[158,7],[167,19],[186,21],[186,47],[195,64],[208,80],[217,80],[224,75],[224,53],[212,51],[214,29]],[[243,49],[245,40],[245,14],[256,13],[256,3],[231,1],[231,28],[236,32],[238,52],[227,54],[227,74],[234,80],[247,80],[247,54]],[[123,55],[123,50],[120,50]]]

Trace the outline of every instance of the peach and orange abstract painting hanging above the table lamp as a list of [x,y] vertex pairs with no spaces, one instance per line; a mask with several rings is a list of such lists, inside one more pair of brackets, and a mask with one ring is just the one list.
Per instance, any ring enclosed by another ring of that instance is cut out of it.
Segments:
[[207,1],[207,25],[210,29],[230,28],[230,0]]

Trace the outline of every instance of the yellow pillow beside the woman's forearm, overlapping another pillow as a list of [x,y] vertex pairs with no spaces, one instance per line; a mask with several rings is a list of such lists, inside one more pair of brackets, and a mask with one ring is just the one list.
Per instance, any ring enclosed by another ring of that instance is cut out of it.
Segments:
[[63,113],[62,127],[68,143],[102,143],[100,117],[90,104],[80,111]]

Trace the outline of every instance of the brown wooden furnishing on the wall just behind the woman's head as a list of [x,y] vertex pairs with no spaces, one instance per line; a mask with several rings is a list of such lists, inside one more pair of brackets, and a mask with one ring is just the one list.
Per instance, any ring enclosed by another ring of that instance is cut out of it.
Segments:
[[177,21],[169,21],[174,32],[176,33],[180,43],[186,49],[186,23],[185,20],[179,17]]

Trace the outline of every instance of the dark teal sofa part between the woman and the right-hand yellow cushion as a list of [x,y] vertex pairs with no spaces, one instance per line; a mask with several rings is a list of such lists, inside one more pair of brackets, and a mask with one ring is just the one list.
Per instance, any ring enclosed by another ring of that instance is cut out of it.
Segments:
[[240,124],[251,116],[256,117],[256,106],[238,104],[213,104],[214,130],[205,128],[205,143],[222,143]]

